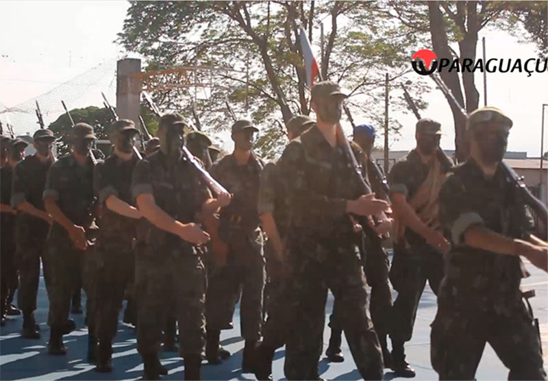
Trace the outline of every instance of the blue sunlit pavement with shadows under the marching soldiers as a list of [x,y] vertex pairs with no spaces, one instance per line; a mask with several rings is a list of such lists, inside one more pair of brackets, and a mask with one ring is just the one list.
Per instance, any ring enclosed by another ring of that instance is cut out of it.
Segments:
[[[543,271],[527,265],[532,276],[523,280],[523,288],[536,290],[532,305],[536,316],[540,319],[543,335],[544,353],[548,354],[548,275]],[[47,318],[47,295],[43,278],[40,282],[38,295],[38,310],[36,318],[40,323],[42,339],[31,341],[19,337],[21,316],[10,317],[10,321],[0,330],[0,379],[1,380],[137,380],[142,377],[142,361],[136,350],[136,339],[133,329],[120,322],[119,332],[114,343],[114,371],[110,374],[95,373],[94,366],[88,364],[86,357],[87,329],[84,327],[84,317],[73,315],[78,329],[65,336],[69,348],[67,356],[55,357],[46,354],[49,328]],[[332,310],[333,297],[329,295],[326,313]],[[238,311],[237,311],[238,312]],[[408,344],[408,361],[416,369],[416,380],[437,380],[437,374],[430,365],[429,356],[429,324],[436,314],[436,297],[426,289],[419,306],[414,336]],[[204,363],[202,367],[203,380],[254,380],[251,373],[242,373],[243,340],[239,336],[238,313],[234,318],[234,329],[223,331],[221,343],[233,353],[233,356],[223,365],[212,366]],[[343,339],[344,340],[344,339]],[[324,347],[329,341],[329,329],[324,332]],[[328,380],[359,380],[360,376],[351,358],[346,341],[343,341],[345,362],[332,364],[321,359],[320,374]],[[548,356],[545,355],[545,365]],[[182,360],[175,353],[162,354],[162,364],[169,368],[169,376],[165,380],[182,380],[184,367]],[[275,354],[273,376],[275,380],[284,379],[284,348]],[[488,345],[477,371],[477,380],[506,380],[508,373],[493,349]],[[384,379],[392,380],[393,373],[385,372]]]

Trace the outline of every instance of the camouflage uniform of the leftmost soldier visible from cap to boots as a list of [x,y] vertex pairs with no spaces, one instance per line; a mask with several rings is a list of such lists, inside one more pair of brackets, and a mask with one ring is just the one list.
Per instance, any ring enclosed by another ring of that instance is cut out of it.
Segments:
[[[46,176],[52,162],[41,162],[36,156],[27,156],[15,166],[12,207],[27,201],[37,209],[44,209],[42,195]],[[25,212],[19,212],[15,222],[16,264],[20,285],[17,305],[23,315],[36,310],[36,296],[40,280],[40,257],[43,255],[49,224]]]

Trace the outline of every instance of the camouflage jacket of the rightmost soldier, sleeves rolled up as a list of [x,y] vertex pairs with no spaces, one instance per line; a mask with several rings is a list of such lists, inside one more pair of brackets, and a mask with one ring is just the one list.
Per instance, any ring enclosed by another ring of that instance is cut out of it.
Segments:
[[469,247],[462,237],[475,224],[511,238],[529,234],[530,217],[500,169],[489,178],[473,159],[455,167],[440,190],[439,216],[451,232],[451,251],[445,256],[438,302],[486,303],[519,295],[521,278],[527,275],[520,258]]

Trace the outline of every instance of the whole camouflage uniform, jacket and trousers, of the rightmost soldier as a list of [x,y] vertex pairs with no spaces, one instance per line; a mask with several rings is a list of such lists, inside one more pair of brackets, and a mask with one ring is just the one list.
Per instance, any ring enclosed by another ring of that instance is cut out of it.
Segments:
[[526,239],[531,221],[501,169],[488,178],[475,160],[456,167],[440,190],[440,222],[451,231],[445,277],[432,323],[432,366],[440,380],[473,380],[486,343],[510,369],[508,380],[545,380],[540,339],[519,288],[529,274],[518,256],[474,249],[462,234],[482,225]]

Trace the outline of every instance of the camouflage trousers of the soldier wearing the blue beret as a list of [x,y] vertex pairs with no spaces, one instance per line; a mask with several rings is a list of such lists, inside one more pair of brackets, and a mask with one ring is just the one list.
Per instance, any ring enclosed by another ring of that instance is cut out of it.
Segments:
[[[373,327],[375,327],[378,336],[386,336],[390,333],[390,319],[392,319],[392,290],[388,280],[388,269],[390,268],[388,255],[384,251],[380,239],[364,237],[363,245],[360,246],[360,256],[364,262],[367,284],[371,287],[369,310]],[[338,322],[339,309],[340,304],[335,300],[333,313],[329,317],[329,327],[335,330],[341,329]]]

